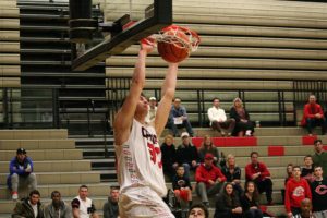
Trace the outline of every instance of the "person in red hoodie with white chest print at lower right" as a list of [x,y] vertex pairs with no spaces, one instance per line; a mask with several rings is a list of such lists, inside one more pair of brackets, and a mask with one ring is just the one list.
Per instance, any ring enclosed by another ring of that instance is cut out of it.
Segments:
[[284,207],[289,218],[301,214],[301,201],[304,198],[312,198],[311,189],[307,181],[301,178],[301,168],[294,166],[293,178],[288,181],[284,193]]

